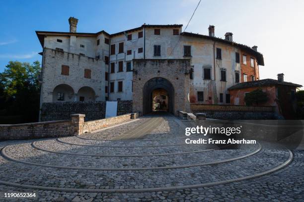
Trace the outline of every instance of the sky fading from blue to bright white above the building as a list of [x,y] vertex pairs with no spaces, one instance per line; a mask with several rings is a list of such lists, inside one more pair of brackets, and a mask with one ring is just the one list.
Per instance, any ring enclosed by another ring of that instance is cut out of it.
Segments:
[[[147,24],[186,24],[199,0],[0,0],[0,72],[10,60],[41,61],[35,30],[108,33]],[[202,0],[186,31],[258,46],[264,55],[260,79],[277,78],[304,85],[304,0]]]

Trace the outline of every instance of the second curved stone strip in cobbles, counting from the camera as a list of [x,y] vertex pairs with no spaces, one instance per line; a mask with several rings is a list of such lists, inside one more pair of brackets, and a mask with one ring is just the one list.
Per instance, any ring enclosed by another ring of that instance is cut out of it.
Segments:
[[234,160],[238,160],[238,159],[248,157],[250,155],[253,155],[253,154],[261,151],[262,146],[259,143],[258,143],[258,145],[259,145],[259,148],[255,151],[253,151],[253,152],[250,152],[250,153],[247,153],[245,155],[238,156],[238,157],[234,157],[234,158],[228,158],[228,159],[225,159],[225,160],[211,161],[211,162],[207,162],[207,163],[188,164],[188,165],[162,166],[162,167],[144,167],[144,168],[99,168],[99,167],[80,167],[80,166],[76,167],[76,166],[46,165],[46,164],[41,164],[41,163],[33,163],[33,162],[29,162],[29,161],[23,161],[23,160],[19,160],[19,159],[16,159],[14,157],[11,157],[5,152],[6,147],[4,147],[1,150],[1,155],[4,158],[6,158],[10,161],[15,161],[17,163],[23,163],[23,164],[34,165],[34,166],[42,166],[42,167],[52,167],[52,168],[61,168],[61,169],[72,169],[72,170],[98,170],[98,171],[131,171],[132,170],[132,171],[136,171],[136,170],[180,169],[180,168],[199,167],[199,166],[226,163],[226,162],[230,162],[230,161],[234,161]]

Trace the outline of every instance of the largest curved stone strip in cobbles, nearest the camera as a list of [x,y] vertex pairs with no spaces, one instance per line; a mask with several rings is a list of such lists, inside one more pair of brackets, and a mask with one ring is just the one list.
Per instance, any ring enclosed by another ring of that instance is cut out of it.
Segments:
[[12,186],[12,187],[26,188],[26,189],[39,189],[39,190],[59,191],[59,192],[139,193],[139,192],[158,192],[158,191],[174,191],[174,190],[177,191],[177,190],[183,190],[183,189],[211,187],[211,186],[216,186],[216,185],[238,182],[238,181],[242,181],[242,180],[249,180],[252,178],[257,178],[257,177],[261,177],[261,176],[276,172],[276,171],[286,167],[287,165],[289,165],[292,162],[294,155],[290,150],[288,150],[288,152],[289,152],[289,158],[281,165],[278,165],[277,167],[274,167],[270,170],[266,170],[264,172],[256,173],[253,175],[248,175],[245,177],[239,177],[239,178],[234,178],[234,179],[229,179],[229,180],[222,180],[222,181],[217,181],[217,182],[208,182],[208,183],[202,183],[202,184],[196,184],[196,185],[156,187],[156,188],[143,188],[143,189],[76,189],[76,188],[59,188],[59,187],[24,185],[24,184],[12,183],[12,182],[2,181],[2,180],[0,180],[0,184],[6,185],[6,186]]

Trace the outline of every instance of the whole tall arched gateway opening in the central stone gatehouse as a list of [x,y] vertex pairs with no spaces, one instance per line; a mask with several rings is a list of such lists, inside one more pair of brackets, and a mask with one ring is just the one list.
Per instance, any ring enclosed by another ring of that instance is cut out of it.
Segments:
[[152,111],[168,111],[173,113],[174,88],[164,78],[155,77],[146,82],[143,88],[143,114]]

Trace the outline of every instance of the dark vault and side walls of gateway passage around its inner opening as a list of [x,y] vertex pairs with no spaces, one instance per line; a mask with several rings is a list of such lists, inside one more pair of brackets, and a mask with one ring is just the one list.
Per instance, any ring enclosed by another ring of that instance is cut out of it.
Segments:
[[[152,112],[153,109],[153,91],[154,90],[164,90],[167,92],[167,105],[168,111],[173,113],[174,111],[174,88],[172,84],[164,78],[156,77],[153,78],[144,85],[143,88],[143,114]],[[155,92],[155,91],[154,91]]]

